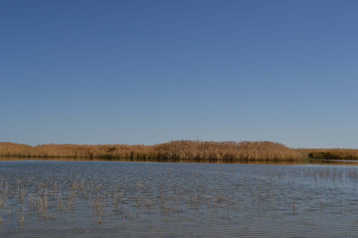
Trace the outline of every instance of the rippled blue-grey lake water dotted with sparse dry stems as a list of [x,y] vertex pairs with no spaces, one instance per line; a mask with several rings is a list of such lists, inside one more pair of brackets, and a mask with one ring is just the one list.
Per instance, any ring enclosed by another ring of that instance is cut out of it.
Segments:
[[356,163],[3,158],[0,237],[354,237]]

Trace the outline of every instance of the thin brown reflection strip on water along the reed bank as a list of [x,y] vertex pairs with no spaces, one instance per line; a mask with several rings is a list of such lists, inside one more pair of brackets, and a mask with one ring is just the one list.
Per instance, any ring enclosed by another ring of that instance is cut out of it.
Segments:
[[217,164],[271,164],[271,165],[358,165],[358,160],[336,160],[336,159],[306,159],[289,161],[196,161],[192,159],[136,159],[136,158],[71,158],[71,157],[14,157],[0,156],[0,161],[121,161],[121,162],[167,162],[167,163],[217,163]]

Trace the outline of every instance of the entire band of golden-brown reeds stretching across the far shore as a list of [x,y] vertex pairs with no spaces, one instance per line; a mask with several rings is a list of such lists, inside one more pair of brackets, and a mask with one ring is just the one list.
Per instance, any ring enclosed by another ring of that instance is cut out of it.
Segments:
[[255,161],[358,159],[357,149],[289,148],[270,141],[170,141],[156,145],[71,145],[46,144],[29,146],[0,142],[0,156],[71,157],[71,158],[131,158],[193,161]]

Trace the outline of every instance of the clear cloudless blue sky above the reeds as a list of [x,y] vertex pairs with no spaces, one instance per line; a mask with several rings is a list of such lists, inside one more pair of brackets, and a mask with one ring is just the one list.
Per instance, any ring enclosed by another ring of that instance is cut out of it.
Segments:
[[0,1],[0,141],[358,148],[358,1]]

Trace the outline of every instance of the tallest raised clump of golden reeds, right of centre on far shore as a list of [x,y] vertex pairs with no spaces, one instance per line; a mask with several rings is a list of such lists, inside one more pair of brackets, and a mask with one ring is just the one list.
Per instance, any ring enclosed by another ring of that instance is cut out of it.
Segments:
[[154,157],[199,161],[294,160],[304,153],[270,141],[170,141],[154,145]]

